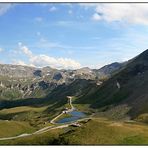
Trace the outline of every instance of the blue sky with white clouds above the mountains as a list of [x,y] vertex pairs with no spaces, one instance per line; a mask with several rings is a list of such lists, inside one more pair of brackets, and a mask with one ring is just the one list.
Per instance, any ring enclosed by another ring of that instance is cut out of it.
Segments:
[[98,69],[147,48],[147,3],[0,3],[2,64]]

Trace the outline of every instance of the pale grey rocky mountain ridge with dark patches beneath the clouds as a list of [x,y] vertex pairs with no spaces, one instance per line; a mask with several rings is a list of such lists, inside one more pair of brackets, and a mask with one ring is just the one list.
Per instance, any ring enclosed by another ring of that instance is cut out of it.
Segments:
[[120,67],[120,64],[113,64],[100,70],[88,67],[77,70],[58,70],[49,66],[35,68],[0,64],[0,99],[41,97],[59,85],[69,85],[78,79],[93,80],[97,84],[101,84],[99,80],[101,76],[107,75]]

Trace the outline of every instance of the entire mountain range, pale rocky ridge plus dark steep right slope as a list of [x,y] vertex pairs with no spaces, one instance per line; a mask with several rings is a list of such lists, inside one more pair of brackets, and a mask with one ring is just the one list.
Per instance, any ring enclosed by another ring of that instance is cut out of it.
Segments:
[[56,102],[73,95],[77,97],[75,104],[87,104],[103,116],[111,112],[113,118],[123,118],[124,115],[137,118],[148,112],[147,74],[148,50],[128,62],[115,62],[100,69],[58,70],[1,64],[1,108],[11,100],[21,104],[24,99],[36,98],[41,102]]

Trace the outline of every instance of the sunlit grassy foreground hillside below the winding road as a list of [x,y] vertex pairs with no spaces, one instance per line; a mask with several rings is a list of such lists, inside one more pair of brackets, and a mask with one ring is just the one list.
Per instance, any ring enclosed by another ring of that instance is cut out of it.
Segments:
[[0,141],[1,145],[134,145],[148,144],[148,127],[138,122],[106,118],[81,121],[81,127],[50,130],[42,134]]

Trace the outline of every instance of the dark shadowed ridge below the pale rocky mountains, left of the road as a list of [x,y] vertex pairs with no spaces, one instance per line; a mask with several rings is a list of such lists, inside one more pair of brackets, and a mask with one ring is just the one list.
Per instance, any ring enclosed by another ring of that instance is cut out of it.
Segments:
[[0,109],[13,108],[18,106],[42,107],[50,106],[46,111],[54,110],[67,103],[67,96],[80,96],[86,94],[94,86],[93,81],[85,79],[77,79],[73,83],[59,85],[45,98],[26,98],[18,100],[1,100]]

